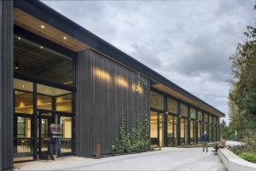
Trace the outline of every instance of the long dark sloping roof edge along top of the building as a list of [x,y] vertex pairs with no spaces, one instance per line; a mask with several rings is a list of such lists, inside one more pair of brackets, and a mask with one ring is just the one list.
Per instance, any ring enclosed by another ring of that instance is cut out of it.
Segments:
[[31,14],[38,20],[42,20],[44,23],[47,23],[49,26],[53,26],[59,31],[66,33],[70,37],[75,38],[79,42],[85,43],[90,48],[93,48],[96,51],[107,55],[113,60],[118,61],[124,66],[127,66],[132,70],[141,73],[143,76],[148,77],[152,83],[162,84],[167,89],[170,88],[172,91],[176,91],[178,94],[182,94],[183,96],[188,97],[190,100],[194,100],[198,104],[207,106],[207,108],[210,109],[209,111],[218,117],[225,116],[222,111],[218,111],[218,109],[199,99],[194,94],[190,94],[187,90],[177,86],[175,83],[172,83],[166,77],[161,76],[158,72],[152,70],[148,66],[143,65],[138,60],[135,60],[130,55],[125,54],[123,51],[119,50],[119,48],[116,48],[112,44],[104,41],[101,37],[97,37],[92,32],[84,29],[82,26],[79,26],[79,24],[56,12],[54,9],[51,9],[46,4],[38,0],[15,1],[14,3],[14,8],[21,9],[27,14]]

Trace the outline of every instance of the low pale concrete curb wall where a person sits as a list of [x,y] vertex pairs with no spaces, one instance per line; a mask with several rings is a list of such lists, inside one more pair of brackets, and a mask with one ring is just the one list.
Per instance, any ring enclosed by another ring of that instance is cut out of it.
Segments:
[[256,164],[247,162],[228,149],[218,149],[218,157],[229,171],[255,171]]

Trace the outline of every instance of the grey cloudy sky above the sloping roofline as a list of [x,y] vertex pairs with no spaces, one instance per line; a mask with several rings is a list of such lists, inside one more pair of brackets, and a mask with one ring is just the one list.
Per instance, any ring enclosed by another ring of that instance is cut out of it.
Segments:
[[255,22],[254,0],[44,3],[228,113],[229,57]]

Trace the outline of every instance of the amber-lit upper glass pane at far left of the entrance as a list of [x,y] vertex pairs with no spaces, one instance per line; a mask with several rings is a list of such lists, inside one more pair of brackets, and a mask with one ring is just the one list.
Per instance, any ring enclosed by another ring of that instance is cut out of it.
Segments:
[[33,114],[33,94],[15,90],[15,113]]

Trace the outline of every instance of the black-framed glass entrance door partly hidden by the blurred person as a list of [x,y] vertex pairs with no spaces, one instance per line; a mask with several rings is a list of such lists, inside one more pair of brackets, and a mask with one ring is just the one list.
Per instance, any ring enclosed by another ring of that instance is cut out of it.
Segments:
[[[49,126],[52,123],[55,123],[53,112],[38,111],[38,159],[48,159],[50,140]],[[53,151],[55,151],[55,147]]]

